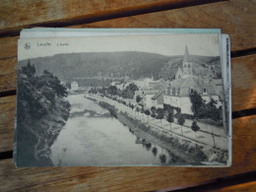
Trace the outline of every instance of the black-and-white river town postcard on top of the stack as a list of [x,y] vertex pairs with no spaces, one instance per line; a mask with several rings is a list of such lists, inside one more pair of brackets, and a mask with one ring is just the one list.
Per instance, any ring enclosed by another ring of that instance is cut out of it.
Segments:
[[17,166],[228,166],[220,33],[19,40]]

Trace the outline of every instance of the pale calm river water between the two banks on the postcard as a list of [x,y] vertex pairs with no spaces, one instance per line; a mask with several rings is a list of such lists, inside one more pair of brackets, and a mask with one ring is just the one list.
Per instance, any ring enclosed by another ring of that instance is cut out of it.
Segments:
[[83,95],[68,100],[70,117],[51,146],[55,166],[160,165],[170,159],[165,150],[138,138],[96,102]]

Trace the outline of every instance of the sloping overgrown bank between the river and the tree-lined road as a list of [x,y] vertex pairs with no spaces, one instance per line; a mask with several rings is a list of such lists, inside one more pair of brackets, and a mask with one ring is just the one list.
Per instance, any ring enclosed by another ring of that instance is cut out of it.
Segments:
[[[93,101],[97,100],[92,97],[87,97]],[[193,164],[202,165],[203,161],[213,161],[218,163],[226,163],[227,152],[213,147],[203,146],[192,143],[191,141],[176,137],[175,135],[152,127],[145,122],[134,119],[127,112],[118,111],[113,105],[105,101],[99,101],[98,104],[109,110],[122,124],[127,126],[133,134],[141,138],[143,142],[152,143],[166,150],[171,157],[169,162],[164,162],[162,165],[178,165],[178,164]]]

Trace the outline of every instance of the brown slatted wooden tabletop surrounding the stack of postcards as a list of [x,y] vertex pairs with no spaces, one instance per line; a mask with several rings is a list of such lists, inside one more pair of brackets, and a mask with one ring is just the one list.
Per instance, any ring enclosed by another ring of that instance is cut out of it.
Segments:
[[[0,0],[1,1],[1,0]],[[256,1],[229,0],[58,0],[0,2],[0,35],[23,28],[221,28],[231,51],[256,47]],[[191,6],[196,4],[205,4]],[[191,7],[186,7],[191,6]],[[185,7],[181,9],[176,9]],[[168,11],[162,11],[167,10]],[[156,12],[160,11],[160,12]],[[154,13],[155,12],[155,13]],[[127,17],[129,16],[129,17]],[[109,20],[111,19],[111,20]],[[17,40],[0,37],[0,93],[16,90]],[[232,110],[256,107],[256,54],[232,58]],[[0,97],[0,153],[13,150],[16,96]],[[0,191],[149,191],[191,186],[256,171],[256,115],[233,123],[233,164],[228,168],[59,167],[15,168],[0,160]],[[236,187],[236,188],[235,188]],[[255,190],[255,182],[224,188]]]

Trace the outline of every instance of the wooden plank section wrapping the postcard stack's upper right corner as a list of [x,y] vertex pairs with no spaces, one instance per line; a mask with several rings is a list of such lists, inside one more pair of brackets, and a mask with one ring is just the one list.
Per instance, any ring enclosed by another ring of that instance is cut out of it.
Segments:
[[176,10],[118,18],[73,28],[202,28],[222,29],[231,51],[256,47],[256,2],[228,0]]

